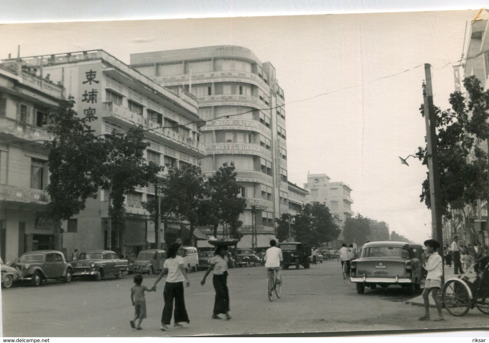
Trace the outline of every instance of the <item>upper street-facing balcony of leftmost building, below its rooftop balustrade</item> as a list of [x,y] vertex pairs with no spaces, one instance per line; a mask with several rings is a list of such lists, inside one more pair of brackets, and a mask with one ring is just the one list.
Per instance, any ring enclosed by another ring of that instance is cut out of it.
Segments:
[[42,145],[44,141],[52,140],[52,136],[43,128],[32,126],[15,119],[0,117],[0,137],[5,137],[7,142]]

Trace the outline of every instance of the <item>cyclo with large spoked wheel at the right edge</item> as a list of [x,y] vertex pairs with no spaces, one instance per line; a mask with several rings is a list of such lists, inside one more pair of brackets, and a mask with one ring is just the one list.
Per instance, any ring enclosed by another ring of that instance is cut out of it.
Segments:
[[475,261],[474,270],[475,279],[471,280],[466,272],[443,286],[443,302],[452,316],[462,317],[474,307],[489,315],[489,256]]

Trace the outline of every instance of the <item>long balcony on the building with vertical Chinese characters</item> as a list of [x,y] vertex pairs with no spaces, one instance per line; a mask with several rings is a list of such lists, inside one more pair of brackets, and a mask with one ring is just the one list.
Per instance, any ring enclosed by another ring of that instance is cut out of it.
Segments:
[[159,124],[151,120],[144,120],[142,116],[131,112],[129,108],[115,105],[112,102],[105,103],[105,115],[103,118],[107,122],[125,129],[141,125],[147,130],[144,133],[145,136],[158,143],[188,153],[196,158],[203,158],[205,156],[204,146],[200,142],[188,136],[178,134],[173,129],[162,128]]

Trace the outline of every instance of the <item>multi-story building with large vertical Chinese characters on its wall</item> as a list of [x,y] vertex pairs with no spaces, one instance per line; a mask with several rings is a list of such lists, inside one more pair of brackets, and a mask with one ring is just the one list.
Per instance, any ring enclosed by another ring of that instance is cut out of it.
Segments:
[[[147,161],[180,167],[197,165],[204,157],[205,150],[199,142],[203,123],[198,116],[197,99],[183,88],[173,87],[170,91],[103,50],[33,56],[22,61],[42,69],[50,80],[63,83],[66,94],[74,97],[74,110],[79,115],[97,117],[90,123],[95,135],[142,126],[150,143],[145,151]],[[29,158],[33,165],[39,159]],[[166,172],[158,176],[163,178]],[[28,182],[29,178],[25,180]],[[155,196],[154,186],[126,194],[125,222],[120,228],[112,225],[110,236],[108,194],[99,192],[96,199],[87,201],[86,210],[65,223],[63,239],[68,256],[74,249],[110,248],[132,255],[152,243],[161,246],[163,237],[155,235],[154,222],[141,205]],[[165,227],[165,238],[174,241],[181,230],[177,223],[170,223]],[[159,242],[155,242],[155,236]]]

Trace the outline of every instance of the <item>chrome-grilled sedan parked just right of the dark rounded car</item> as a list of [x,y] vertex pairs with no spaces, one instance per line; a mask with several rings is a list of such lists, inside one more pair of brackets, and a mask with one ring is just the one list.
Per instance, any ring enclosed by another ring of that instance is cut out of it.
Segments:
[[122,278],[128,270],[127,259],[120,259],[111,250],[92,250],[81,253],[77,261],[73,261],[73,277],[93,278],[100,280],[113,275]]

